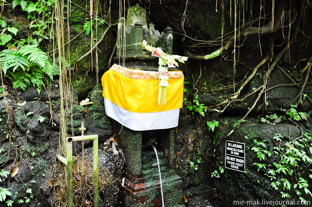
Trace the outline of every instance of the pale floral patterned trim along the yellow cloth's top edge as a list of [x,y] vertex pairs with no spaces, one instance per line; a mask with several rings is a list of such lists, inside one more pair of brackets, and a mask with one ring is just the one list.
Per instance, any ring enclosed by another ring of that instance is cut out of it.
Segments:
[[[110,70],[118,72],[124,75],[127,78],[131,79],[158,79],[158,72],[157,71],[146,71],[140,69],[129,69],[122,67],[121,65],[114,64]],[[169,71],[168,72],[169,79],[174,78],[182,78],[184,77],[182,71]]]

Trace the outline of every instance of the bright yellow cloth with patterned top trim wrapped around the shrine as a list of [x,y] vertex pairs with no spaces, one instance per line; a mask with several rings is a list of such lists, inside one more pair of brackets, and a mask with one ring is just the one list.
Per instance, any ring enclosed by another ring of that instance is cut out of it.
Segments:
[[[130,112],[151,113],[182,108],[183,81],[181,71],[169,72],[166,105],[158,102],[158,72],[127,69],[113,65],[102,76],[103,96]],[[147,79],[148,78],[148,79]]]

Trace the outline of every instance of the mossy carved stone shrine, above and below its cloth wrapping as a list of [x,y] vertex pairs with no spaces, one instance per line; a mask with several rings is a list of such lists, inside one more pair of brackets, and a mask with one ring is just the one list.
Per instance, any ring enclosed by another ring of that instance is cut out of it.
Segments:
[[[121,17],[118,24],[115,63],[133,69],[158,71],[158,58],[142,51],[143,40],[172,54],[172,29],[167,27],[160,34],[153,24],[147,25],[145,10],[137,4],[129,8],[127,20]],[[165,206],[181,206],[182,180],[173,170],[175,129],[133,131],[116,121],[113,124],[116,141],[124,152],[127,165],[124,205],[162,206],[157,160],[151,146],[157,142]]]

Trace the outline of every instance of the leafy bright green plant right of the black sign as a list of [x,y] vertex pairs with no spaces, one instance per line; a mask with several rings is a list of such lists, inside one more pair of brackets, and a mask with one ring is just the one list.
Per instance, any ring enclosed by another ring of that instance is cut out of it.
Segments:
[[[304,200],[301,197],[302,192],[300,190],[312,196],[308,181],[301,176],[301,173],[305,171],[302,163],[312,164],[312,159],[305,152],[305,148],[310,148],[312,134],[304,133],[302,138],[295,142],[286,142],[284,145],[281,145],[283,136],[279,133],[275,133],[272,138],[274,142],[276,141],[273,147],[275,157],[272,158],[275,161],[267,165],[254,163],[258,167],[258,171],[261,168],[267,168],[265,175],[271,180],[271,187],[276,191],[280,191],[282,198],[290,198],[288,192],[291,189],[295,190],[300,200]],[[253,147],[252,150],[257,153],[260,161],[266,160],[266,156],[272,156],[271,152],[267,150],[264,140],[263,142],[254,140],[254,143],[257,146]],[[312,178],[312,174],[309,176]]]

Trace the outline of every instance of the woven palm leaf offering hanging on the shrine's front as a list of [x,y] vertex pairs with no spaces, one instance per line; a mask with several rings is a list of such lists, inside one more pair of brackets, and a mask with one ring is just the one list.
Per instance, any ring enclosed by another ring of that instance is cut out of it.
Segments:
[[169,55],[164,53],[163,50],[159,47],[152,47],[147,44],[145,40],[142,42],[142,49],[150,51],[152,56],[159,57],[158,60],[158,105],[160,105],[161,94],[163,94],[163,103],[162,105],[166,105],[166,87],[169,87],[168,84],[168,67],[178,67],[178,60],[181,63],[185,63],[184,61],[188,60],[188,57],[180,56],[180,55]]

